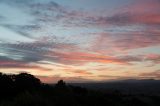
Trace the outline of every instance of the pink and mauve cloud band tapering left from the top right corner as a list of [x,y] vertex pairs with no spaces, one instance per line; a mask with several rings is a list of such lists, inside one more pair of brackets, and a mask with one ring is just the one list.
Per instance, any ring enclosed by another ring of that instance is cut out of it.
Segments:
[[132,26],[132,25],[159,25],[160,24],[160,1],[158,0],[136,0],[128,6],[112,11],[113,15],[86,17],[90,24],[100,27]]

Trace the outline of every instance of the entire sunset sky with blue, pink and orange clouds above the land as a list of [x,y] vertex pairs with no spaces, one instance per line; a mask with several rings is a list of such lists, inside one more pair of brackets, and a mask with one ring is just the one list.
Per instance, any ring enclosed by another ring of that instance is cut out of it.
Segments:
[[0,0],[0,72],[160,79],[160,0]]

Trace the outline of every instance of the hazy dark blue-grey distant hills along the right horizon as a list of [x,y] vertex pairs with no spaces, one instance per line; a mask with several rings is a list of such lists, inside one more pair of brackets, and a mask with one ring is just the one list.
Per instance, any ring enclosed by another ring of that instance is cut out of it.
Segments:
[[120,80],[114,82],[96,82],[96,83],[70,83],[74,86],[81,86],[88,89],[111,91],[119,90],[124,93],[131,94],[158,94],[160,95],[160,80],[145,79],[145,80]]

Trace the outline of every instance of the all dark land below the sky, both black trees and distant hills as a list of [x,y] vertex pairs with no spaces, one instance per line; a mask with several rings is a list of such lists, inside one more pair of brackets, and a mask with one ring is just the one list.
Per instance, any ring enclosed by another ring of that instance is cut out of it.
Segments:
[[0,73],[0,106],[160,106],[160,81],[42,83],[33,75]]

